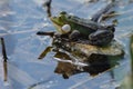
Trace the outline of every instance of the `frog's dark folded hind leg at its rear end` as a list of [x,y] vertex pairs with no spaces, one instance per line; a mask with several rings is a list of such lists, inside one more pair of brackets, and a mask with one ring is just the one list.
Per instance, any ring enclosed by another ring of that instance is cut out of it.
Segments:
[[89,36],[90,44],[105,46],[109,44],[114,37],[111,30],[98,30]]

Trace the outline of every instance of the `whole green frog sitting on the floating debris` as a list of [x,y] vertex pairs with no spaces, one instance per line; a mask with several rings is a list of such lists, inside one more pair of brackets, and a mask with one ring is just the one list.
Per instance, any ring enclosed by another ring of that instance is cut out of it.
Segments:
[[104,26],[91,19],[83,19],[62,11],[50,17],[60,34],[68,34],[71,41],[93,46],[109,44],[114,38],[115,26]]

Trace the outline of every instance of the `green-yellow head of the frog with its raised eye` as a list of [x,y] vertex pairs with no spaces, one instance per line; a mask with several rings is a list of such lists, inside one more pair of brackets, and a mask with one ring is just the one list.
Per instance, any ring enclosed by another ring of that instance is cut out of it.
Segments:
[[[53,22],[53,24],[55,26],[57,30],[60,32],[60,33],[65,33],[64,30],[62,30],[62,27],[64,26],[64,29],[65,27],[68,28],[68,14],[66,12],[62,11],[60,12],[60,14],[58,17],[50,17],[50,20]],[[69,30],[70,30],[70,26],[69,26]]]

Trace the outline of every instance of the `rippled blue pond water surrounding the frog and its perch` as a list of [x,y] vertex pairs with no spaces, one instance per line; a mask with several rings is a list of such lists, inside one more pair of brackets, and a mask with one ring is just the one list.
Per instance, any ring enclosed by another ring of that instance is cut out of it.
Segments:
[[[43,60],[38,60],[51,38],[39,37],[38,31],[55,30],[42,3],[45,0],[1,0],[0,1],[0,37],[4,38],[8,55],[8,81],[3,81],[2,53],[0,52],[0,89],[115,89],[130,71],[129,37],[133,32],[132,0],[117,0],[115,10],[120,16],[106,22],[119,21],[115,39],[123,44],[125,51],[120,65],[96,77],[78,73],[63,79],[54,73],[58,61],[54,52]],[[108,0],[89,3],[88,0],[53,0],[52,14],[65,10],[82,18],[90,18],[105,7]],[[0,46],[1,50],[1,46]],[[37,85],[37,86],[35,86]],[[32,87],[32,88],[31,88]]]

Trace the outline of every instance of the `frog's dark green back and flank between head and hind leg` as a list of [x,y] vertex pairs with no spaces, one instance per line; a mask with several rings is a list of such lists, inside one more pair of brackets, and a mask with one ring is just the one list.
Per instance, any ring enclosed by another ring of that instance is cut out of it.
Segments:
[[101,26],[89,19],[82,19],[75,16],[68,16],[68,22],[71,24],[72,30],[79,30],[83,34],[90,34],[96,31]]

